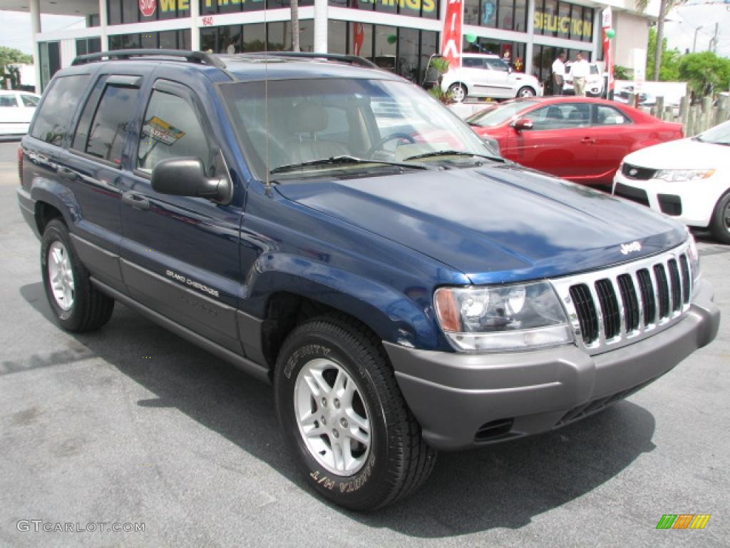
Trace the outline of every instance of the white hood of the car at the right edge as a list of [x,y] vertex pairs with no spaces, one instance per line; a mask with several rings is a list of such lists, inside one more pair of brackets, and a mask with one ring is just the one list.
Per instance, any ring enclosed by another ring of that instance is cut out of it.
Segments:
[[711,142],[680,139],[642,148],[623,161],[654,170],[703,170],[730,165],[730,149]]

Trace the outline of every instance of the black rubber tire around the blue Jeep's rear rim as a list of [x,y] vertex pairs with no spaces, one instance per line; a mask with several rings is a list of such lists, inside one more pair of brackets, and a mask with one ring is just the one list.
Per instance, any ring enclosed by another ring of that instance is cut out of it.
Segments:
[[[59,305],[53,293],[49,272],[49,251],[54,243],[60,243],[68,256],[73,275],[73,299],[69,308]],[[43,231],[41,243],[41,271],[46,297],[56,320],[65,330],[85,332],[99,329],[112,317],[114,300],[91,285],[89,273],[76,254],[69,237],[69,229],[63,221],[53,219]]]

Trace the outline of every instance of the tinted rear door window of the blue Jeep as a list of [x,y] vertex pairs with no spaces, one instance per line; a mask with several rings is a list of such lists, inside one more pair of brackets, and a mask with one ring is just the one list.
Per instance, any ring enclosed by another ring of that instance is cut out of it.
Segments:
[[138,88],[107,85],[98,107],[94,101],[86,103],[72,148],[121,164],[138,94]]

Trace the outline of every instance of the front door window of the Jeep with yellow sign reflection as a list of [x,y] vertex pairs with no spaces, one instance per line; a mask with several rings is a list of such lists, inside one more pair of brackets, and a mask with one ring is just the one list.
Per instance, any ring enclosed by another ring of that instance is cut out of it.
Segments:
[[210,148],[192,104],[177,95],[154,90],[139,137],[137,169],[151,173],[159,161],[188,156],[210,167]]

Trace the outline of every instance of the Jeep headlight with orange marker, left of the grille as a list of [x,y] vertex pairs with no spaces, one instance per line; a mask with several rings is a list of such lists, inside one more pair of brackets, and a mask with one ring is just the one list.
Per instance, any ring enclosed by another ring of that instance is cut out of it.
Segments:
[[439,324],[462,351],[525,350],[572,342],[550,283],[442,287],[434,293]]

